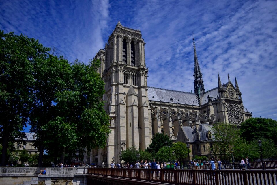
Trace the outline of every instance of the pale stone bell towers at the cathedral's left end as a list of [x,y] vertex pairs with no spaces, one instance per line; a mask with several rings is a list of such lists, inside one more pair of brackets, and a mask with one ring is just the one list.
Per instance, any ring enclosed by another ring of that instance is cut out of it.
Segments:
[[108,162],[113,157],[119,162],[119,152],[128,147],[144,150],[150,143],[144,45],[140,30],[123,27],[118,21],[105,49],[95,57],[101,61],[98,72],[105,82],[103,100],[111,118]]

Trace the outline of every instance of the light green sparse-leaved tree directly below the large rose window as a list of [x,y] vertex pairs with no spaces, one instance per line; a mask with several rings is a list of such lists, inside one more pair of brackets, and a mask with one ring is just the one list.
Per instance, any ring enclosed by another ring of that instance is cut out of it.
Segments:
[[236,125],[228,123],[216,123],[212,128],[214,134],[213,153],[221,159],[228,160],[239,133]]

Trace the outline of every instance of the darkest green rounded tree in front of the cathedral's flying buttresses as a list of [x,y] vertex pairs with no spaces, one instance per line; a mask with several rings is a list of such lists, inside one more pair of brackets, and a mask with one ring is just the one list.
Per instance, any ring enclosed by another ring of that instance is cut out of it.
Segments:
[[154,156],[164,146],[172,147],[172,140],[165,134],[156,133],[152,139],[151,144],[147,147],[146,151],[152,153]]

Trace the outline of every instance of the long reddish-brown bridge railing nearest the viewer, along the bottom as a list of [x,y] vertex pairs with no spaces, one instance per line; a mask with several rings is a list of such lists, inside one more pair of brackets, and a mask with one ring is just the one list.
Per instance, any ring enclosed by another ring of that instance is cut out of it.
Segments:
[[[134,168],[89,168],[90,175],[115,177],[130,180],[145,180],[169,184],[193,185],[248,185],[276,184],[277,170],[173,170],[173,169],[134,169]],[[97,178],[97,177],[95,177]],[[108,181],[108,180],[107,180]]]

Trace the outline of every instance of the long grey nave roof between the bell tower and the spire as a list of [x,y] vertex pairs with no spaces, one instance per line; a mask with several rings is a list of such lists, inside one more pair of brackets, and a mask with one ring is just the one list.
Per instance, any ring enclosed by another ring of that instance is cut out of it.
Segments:
[[[191,92],[148,87],[148,100],[199,106],[197,95]],[[170,100],[172,97],[172,101]]]

